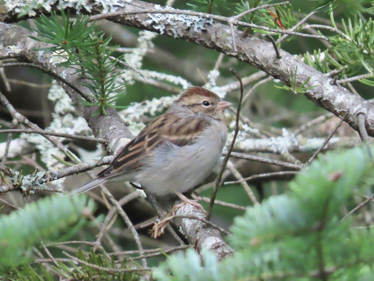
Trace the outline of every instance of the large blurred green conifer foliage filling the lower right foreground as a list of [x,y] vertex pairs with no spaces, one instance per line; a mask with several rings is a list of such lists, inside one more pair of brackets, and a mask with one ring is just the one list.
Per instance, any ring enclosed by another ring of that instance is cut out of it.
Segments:
[[374,274],[374,230],[356,227],[353,215],[343,219],[341,212],[350,209],[355,193],[374,183],[374,163],[367,152],[364,147],[321,155],[296,176],[288,193],[248,208],[232,226],[229,241],[237,251],[233,257],[218,263],[213,254],[203,253],[201,263],[191,250],[169,257],[154,277],[370,280],[366,278]]

